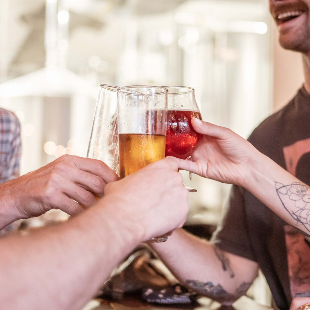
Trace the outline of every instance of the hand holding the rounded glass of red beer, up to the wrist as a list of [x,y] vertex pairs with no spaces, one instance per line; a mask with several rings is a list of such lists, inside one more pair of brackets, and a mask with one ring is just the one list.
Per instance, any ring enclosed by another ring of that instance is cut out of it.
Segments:
[[223,183],[243,185],[252,158],[259,153],[252,144],[228,128],[192,118],[194,129],[204,134],[192,161],[180,161],[180,168]]

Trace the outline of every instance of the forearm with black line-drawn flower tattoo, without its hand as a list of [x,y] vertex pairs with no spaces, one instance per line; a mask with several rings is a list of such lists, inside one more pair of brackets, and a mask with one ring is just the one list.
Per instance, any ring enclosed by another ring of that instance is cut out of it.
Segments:
[[242,186],[310,240],[310,188],[307,185],[257,152]]

